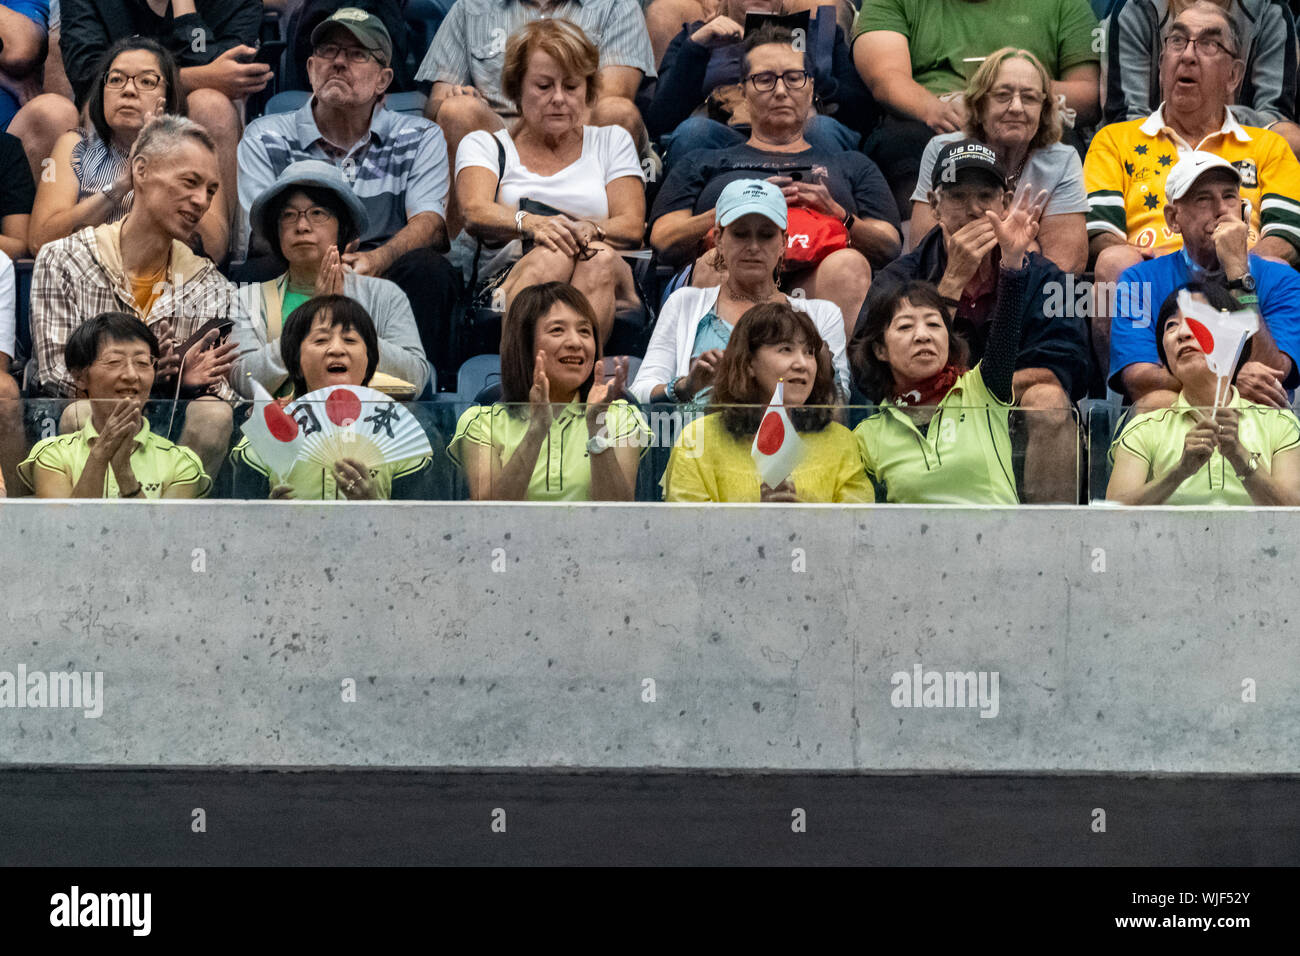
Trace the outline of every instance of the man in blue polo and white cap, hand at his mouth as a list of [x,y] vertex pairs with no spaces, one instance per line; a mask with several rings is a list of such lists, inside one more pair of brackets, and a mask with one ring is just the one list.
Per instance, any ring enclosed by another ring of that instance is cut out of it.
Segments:
[[1156,351],[1156,310],[1193,278],[1219,281],[1264,321],[1251,339],[1251,360],[1236,388],[1251,402],[1282,408],[1287,389],[1300,385],[1300,276],[1290,265],[1248,254],[1249,211],[1242,174],[1209,152],[1188,152],[1165,183],[1165,221],[1182,233],[1183,248],[1124,269],[1110,321],[1110,388],[1139,411],[1165,408],[1178,397],[1178,380]]

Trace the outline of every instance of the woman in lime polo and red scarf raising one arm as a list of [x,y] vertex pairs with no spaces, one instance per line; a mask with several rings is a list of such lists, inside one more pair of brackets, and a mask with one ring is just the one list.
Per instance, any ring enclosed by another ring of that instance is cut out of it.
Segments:
[[878,298],[855,342],[854,367],[878,411],[854,429],[867,475],[885,499],[910,505],[1017,505],[1009,414],[1028,290],[1024,252],[1037,235],[1044,195],[985,213],[1001,250],[997,299],[984,358],[966,368],[966,345],[928,282]]

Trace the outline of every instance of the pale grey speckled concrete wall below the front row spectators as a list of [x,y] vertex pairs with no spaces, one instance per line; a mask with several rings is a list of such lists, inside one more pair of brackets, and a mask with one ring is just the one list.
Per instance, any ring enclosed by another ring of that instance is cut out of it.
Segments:
[[[1294,511],[9,501],[0,540],[0,762],[1300,770]],[[916,665],[989,700],[896,706]],[[14,706],[35,671],[101,715]]]

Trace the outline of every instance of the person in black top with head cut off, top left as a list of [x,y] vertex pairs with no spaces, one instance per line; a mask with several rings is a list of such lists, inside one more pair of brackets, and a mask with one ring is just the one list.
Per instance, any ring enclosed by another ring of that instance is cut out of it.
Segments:
[[[217,144],[225,186],[214,200],[218,215],[212,220],[213,225],[221,225],[222,234],[203,235],[204,255],[217,263],[225,260],[233,245],[235,147],[243,127],[243,99],[260,92],[272,75],[270,66],[254,62],[261,13],[260,0],[172,0],[165,5],[140,0],[62,0],[60,43],[78,105],[86,105],[101,82],[100,57],[124,36],[157,40],[181,68],[181,88],[187,91],[186,116],[208,130]],[[75,118],[58,134],[74,126]]]

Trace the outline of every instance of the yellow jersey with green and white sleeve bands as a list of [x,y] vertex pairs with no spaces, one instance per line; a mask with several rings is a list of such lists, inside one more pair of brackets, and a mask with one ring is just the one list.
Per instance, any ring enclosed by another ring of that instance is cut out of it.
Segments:
[[1242,174],[1251,203],[1251,238],[1278,235],[1300,250],[1300,163],[1277,133],[1242,126],[1232,111],[1222,129],[1195,147],[1165,125],[1164,104],[1145,120],[1097,130],[1083,161],[1088,190],[1088,238],[1110,233],[1154,255],[1175,252],[1183,237],[1165,224],[1165,179],[1179,155],[1213,152]]

